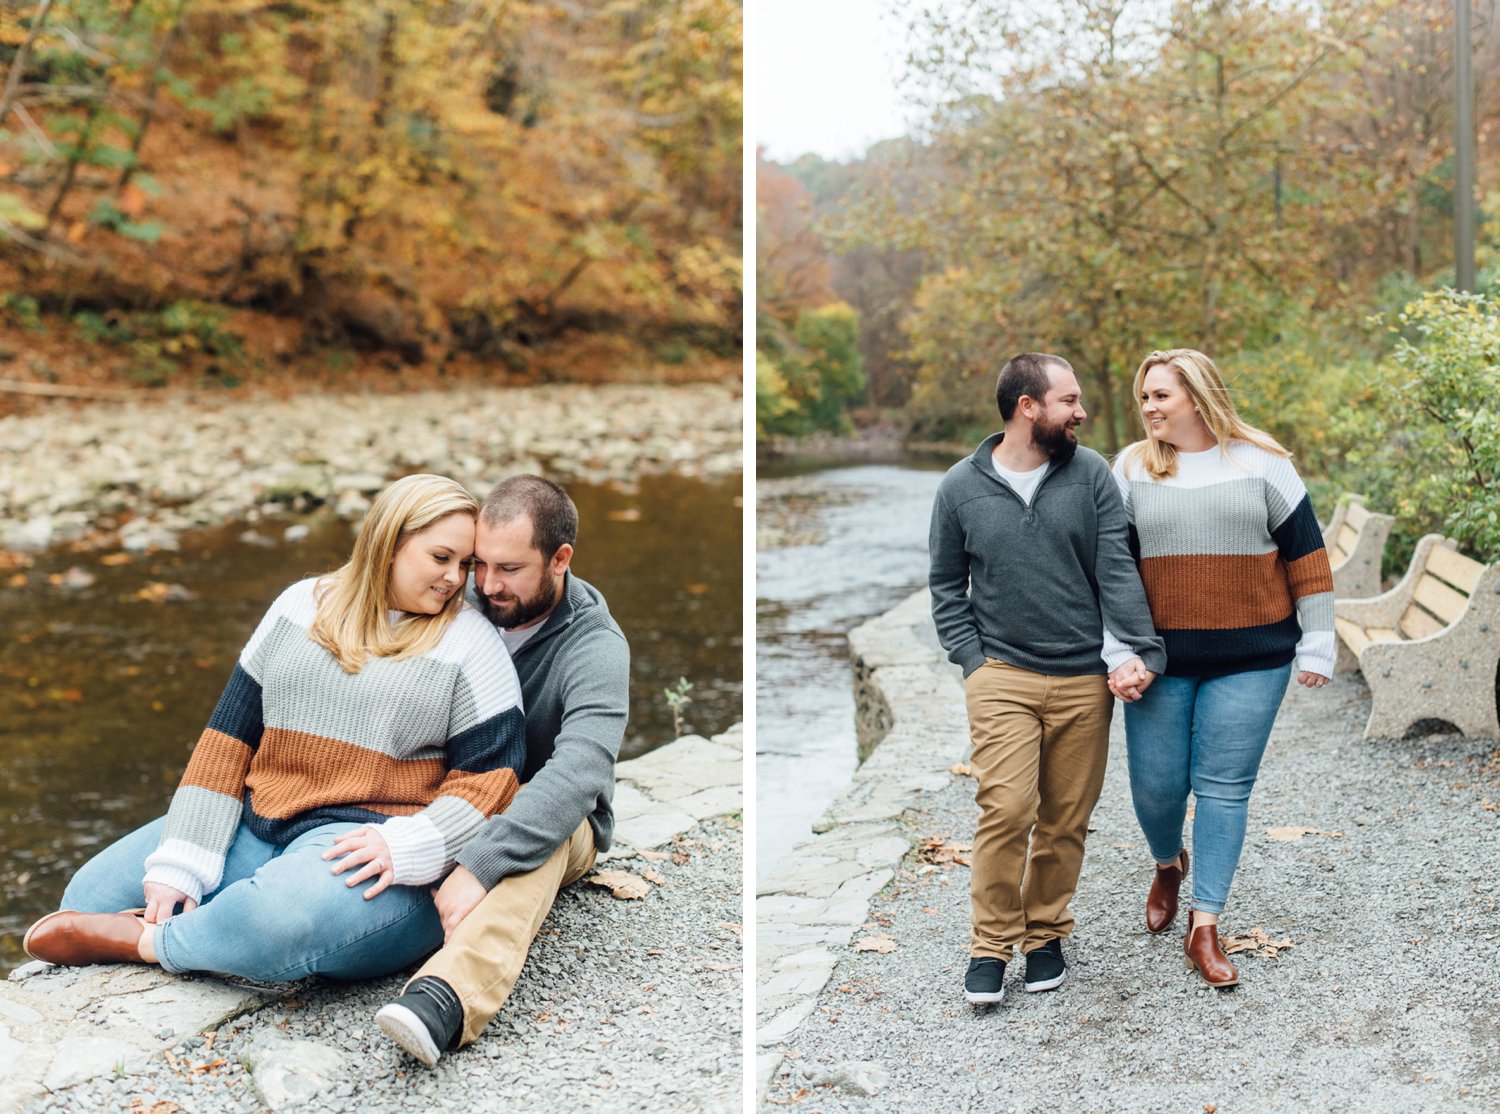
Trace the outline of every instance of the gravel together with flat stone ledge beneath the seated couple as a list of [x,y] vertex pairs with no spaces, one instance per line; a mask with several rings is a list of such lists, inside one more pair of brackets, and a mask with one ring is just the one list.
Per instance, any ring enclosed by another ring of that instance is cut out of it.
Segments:
[[434,1071],[374,1024],[404,976],[256,988],[32,963],[0,984],[0,1110],[738,1111],[742,745],[736,726],[620,763],[598,885],[560,895],[500,1017]]

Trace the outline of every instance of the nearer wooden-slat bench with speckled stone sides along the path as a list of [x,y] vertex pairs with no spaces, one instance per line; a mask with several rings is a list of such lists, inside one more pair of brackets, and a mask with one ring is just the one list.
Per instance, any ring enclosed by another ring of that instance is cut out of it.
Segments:
[[1462,556],[1428,534],[1401,583],[1370,600],[1335,600],[1335,672],[1370,684],[1365,738],[1400,738],[1419,720],[1446,720],[1464,735],[1500,738],[1500,565]]

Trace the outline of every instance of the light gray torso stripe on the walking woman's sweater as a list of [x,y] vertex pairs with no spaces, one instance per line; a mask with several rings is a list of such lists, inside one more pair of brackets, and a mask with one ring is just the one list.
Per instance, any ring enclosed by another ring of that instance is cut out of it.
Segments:
[[[1268,492],[1260,477],[1208,487],[1168,487],[1132,480],[1131,507],[1140,534],[1140,555],[1258,556],[1276,549],[1266,528]],[[1284,505],[1286,501],[1276,496]],[[1142,526],[1140,523],[1148,523]]]

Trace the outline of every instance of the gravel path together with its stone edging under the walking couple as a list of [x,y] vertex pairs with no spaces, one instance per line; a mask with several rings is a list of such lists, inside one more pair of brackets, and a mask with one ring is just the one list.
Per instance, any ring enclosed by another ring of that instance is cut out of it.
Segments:
[[963,688],[926,594],[850,636],[862,727],[885,733],[822,835],[760,888],[760,1095],[778,1108],[1494,1110],[1500,750],[1365,741],[1356,676],[1292,687],[1250,805],[1214,991],[1182,933],[1150,936],[1150,861],[1122,717],[1065,945],[1068,981],[963,1000],[969,939]]

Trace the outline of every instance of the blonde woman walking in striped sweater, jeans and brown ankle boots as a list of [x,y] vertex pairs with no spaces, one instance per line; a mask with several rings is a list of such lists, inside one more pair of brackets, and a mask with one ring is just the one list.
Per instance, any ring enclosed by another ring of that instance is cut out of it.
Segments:
[[1218,921],[1245,843],[1250,792],[1296,669],[1322,688],[1334,673],[1334,579],[1323,535],[1290,453],[1236,412],[1214,361],[1191,348],[1152,352],[1136,372],[1146,439],[1125,448],[1114,480],[1167,672],[1125,687],[1136,817],[1155,877],[1146,928],[1164,933],[1188,873],[1184,948],[1210,987],[1239,973]]

